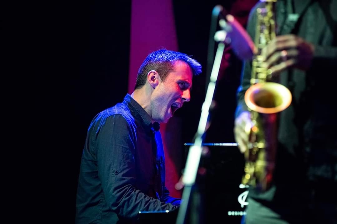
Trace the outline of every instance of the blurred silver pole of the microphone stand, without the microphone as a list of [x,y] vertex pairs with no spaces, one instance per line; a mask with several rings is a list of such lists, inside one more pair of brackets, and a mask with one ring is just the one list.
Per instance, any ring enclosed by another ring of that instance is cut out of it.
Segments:
[[224,48],[225,44],[220,42],[216,50],[210,81],[207,87],[205,101],[202,105],[200,121],[195,135],[194,144],[189,147],[182,179],[184,183],[184,190],[182,194],[183,201],[178,211],[176,224],[184,224],[186,220],[186,214],[190,204],[190,196],[193,191],[193,186],[195,185],[195,179],[201,159],[202,145],[204,140],[203,136],[206,131],[207,119],[209,116],[209,110],[214,95],[215,85],[218,78]]

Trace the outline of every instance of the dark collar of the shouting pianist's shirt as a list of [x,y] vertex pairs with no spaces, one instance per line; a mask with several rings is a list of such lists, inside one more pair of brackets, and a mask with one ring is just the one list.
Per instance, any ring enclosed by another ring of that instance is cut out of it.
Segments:
[[132,116],[134,116],[137,120],[142,121],[142,125],[147,131],[154,132],[159,130],[159,123],[154,122],[152,124],[150,115],[129,94],[126,94],[124,101],[129,105],[128,107],[130,108]]

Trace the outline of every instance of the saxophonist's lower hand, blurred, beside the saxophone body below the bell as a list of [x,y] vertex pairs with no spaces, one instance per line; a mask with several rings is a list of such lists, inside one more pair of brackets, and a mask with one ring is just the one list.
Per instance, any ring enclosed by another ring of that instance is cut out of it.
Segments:
[[251,115],[248,111],[243,111],[234,122],[234,137],[235,141],[239,144],[241,153],[248,149],[249,141],[252,136],[249,136],[250,129],[253,126]]

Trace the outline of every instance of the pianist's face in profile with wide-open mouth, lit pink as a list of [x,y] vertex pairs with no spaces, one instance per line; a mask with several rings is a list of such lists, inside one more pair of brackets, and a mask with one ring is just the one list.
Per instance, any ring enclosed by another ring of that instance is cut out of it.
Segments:
[[175,70],[160,81],[151,96],[152,119],[166,123],[185,101],[190,101],[192,70],[186,62],[176,61]]

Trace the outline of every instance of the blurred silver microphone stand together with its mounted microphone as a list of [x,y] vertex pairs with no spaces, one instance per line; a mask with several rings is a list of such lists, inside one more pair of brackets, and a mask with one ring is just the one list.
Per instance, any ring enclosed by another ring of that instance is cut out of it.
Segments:
[[[182,194],[183,201],[178,211],[176,224],[184,224],[186,221],[186,214],[190,204],[190,196],[193,192],[193,186],[195,185],[195,179],[201,159],[202,146],[207,144],[203,143],[203,138],[206,132],[207,119],[209,116],[222,54],[225,47],[224,43],[231,44],[236,55],[243,60],[251,59],[253,54],[256,52],[256,47],[247,32],[232,15],[225,15],[222,6],[217,5],[214,7],[213,16],[215,15],[222,15],[225,18],[219,20],[219,25],[223,30],[217,31],[214,35],[214,40],[219,42],[219,44],[215,54],[209,84],[206,90],[205,101],[202,105],[201,116],[197,133],[195,135],[195,140],[194,143],[190,144],[187,155],[184,174],[182,177],[182,182],[184,184],[184,190]],[[212,29],[214,28],[212,27]],[[210,48],[211,47],[212,44],[210,45]],[[210,62],[210,60],[208,60],[208,62]],[[234,146],[235,143],[229,144]],[[198,206],[199,205],[196,207]]]

